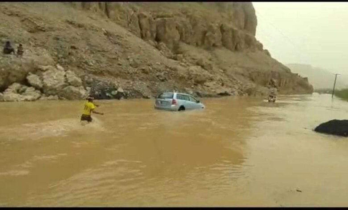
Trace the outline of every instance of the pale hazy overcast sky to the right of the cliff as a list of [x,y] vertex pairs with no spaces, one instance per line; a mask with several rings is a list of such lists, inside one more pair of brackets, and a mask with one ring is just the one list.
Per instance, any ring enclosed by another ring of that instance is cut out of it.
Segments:
[[348,2],[253,2],[272,57],[348,74]]

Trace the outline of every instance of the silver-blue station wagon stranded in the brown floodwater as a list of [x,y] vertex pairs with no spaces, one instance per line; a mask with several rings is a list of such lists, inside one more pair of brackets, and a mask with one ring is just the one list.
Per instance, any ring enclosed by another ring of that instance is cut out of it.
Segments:
[[157,96],[155,108],[168,111],[203,109],[204,104],[186,93],[164,92]]

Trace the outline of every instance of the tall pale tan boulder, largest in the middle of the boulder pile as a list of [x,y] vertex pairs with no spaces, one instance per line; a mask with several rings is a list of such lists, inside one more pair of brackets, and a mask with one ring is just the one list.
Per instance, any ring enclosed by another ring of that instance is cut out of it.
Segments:
[[68,84],[65,83],[65,72],[57,69],[47,70],[42,74],[44,93],[57,95]]

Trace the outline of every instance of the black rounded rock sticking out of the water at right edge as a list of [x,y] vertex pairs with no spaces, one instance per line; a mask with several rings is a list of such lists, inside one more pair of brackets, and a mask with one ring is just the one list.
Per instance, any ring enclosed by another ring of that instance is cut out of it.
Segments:
[[337,136],[348,136],[348,120],[330,120],[314,129],[316,132]]

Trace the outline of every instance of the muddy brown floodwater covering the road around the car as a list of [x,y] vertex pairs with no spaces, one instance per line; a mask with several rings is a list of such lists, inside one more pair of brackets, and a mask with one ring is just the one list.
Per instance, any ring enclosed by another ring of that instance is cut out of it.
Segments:
[[0,206],[347,206],[348,139],[312,131],[348,119],[330,95],[1,103]]

